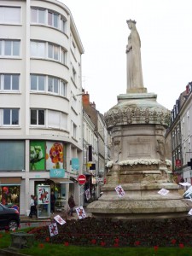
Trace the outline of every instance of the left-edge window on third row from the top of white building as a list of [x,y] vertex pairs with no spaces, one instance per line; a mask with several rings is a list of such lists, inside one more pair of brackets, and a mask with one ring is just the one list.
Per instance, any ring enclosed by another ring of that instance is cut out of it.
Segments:
[[0,90],[19,90],[19,74],[0,74]]

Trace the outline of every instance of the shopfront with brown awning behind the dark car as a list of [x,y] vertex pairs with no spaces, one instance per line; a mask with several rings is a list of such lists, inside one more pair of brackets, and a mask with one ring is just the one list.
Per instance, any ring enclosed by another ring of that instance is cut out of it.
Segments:
[[20,209],[20,183],[21,177],[0,178],[0,201],[4,206]]

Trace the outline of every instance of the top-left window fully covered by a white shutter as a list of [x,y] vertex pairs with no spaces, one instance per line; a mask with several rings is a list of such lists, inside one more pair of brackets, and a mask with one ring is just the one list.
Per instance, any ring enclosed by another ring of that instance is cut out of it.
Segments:
[[0,6],[0,23],[20,24],[20,7]]

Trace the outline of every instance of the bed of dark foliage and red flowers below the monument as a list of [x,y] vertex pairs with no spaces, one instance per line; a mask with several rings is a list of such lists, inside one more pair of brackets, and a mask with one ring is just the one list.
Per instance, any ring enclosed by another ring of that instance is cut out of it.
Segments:
[[[192,247],[192,220],[112,220],[84,218],[57,224],[59,234],[49,237],[49,227],[30,231],[39,243],[102,247]],[[48,239],[49,237],[49,239]]]

